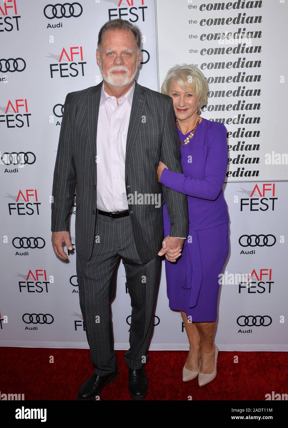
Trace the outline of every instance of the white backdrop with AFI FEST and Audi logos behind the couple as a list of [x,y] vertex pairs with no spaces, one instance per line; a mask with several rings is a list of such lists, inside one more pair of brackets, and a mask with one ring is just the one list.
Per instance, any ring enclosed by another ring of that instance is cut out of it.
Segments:
[[[76,252],[66,263],[51,245],[53,169],[65,96],[100,83],[98,31],[122,18],[143,34],[138,83],[159,90],[171,66],[197,65],[210,87],[203,117],[227,128],[230,254],[215,342],[227,351],[288,350],[287,12],[280,0],[0,5],[1,346],[88,348]],[[122,262],[117,277],[115,349],[127,349]],[[180,313],[168,307],[164,260],[154,324],[150,349],[188,349]]]

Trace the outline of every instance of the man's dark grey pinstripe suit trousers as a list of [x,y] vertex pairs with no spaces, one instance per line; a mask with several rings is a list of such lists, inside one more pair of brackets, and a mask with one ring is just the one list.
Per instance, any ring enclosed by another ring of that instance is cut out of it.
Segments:
[[[129,368],[141,369],[143,357],[148,360],[146,351],[153,332],[160,257],[156,256],[143,265],[136,250],[130,216],[111,219],[98,214],[97,210],[97,236],[98,242],[94,240],[90,260],[76,255],[79,302],[94,373],[107,375],[118,368],[110,300],[115,294],[115,274],[120,256],[132,306],[130,348],[124,354],[124,360]],[[126,322],[126,314],[123,314],[123,322]]]

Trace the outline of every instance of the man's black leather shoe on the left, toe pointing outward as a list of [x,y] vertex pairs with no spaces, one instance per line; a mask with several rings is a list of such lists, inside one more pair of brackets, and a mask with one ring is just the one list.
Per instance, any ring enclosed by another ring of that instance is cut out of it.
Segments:
[[94,400],[97,395],[100,395],[104,386],[118,377],[118,369],[109,375],[100,376],[93,373],[88,377],[78,391],[77,400]]

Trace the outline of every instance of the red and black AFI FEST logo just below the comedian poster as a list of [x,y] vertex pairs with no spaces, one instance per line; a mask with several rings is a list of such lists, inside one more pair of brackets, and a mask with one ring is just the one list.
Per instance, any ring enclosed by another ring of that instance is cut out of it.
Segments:
[[240,211],[274,211],[275,183],[255,184],[249,198],[240,199]]

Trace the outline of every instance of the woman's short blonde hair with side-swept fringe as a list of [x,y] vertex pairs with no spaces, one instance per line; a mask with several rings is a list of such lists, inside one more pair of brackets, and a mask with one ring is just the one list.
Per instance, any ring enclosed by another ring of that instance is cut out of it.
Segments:
[[187,92],[187,89],[191,88],[192,94],[199,100],[199,107],[203,107],[207,104],[209,86],[204,74],[199,68],[189,64],[174,65],[174,67],[168,70],[164,82],[162,83],[162,94],[169,95],[172,80],[176,80],[183,91]]

